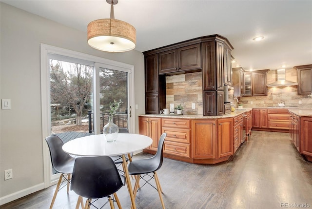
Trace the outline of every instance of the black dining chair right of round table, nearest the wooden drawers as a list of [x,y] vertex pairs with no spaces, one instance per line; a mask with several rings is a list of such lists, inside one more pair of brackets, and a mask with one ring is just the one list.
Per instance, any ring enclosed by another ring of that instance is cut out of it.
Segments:
[[[133,160],[132,162],[129,163],[128,165],[128,171],[129,175],[137,175],[136,176],[136,183],[135,183],[135,188],[133,190],[134,192],[134,197],[137,195],[137,190],[139,188],[142,188],[144,185],[149,184],[149,181],[151,179],[155,179],[156,182],[156,190],[158,191],[161,206],[164,209],[165,205],[162,199],[162,189],[160,187],[159,179],[157,176],[156,171],[162,166],[162,161],[163,161],[163,146],[164,146],[164,141],[167,136],[167,133],[161,134],[158,142],[158,147],[157,147],[157,152],[153,157],[146,158],[146,159],[138,159],[138,160]],[[153,173],[153,175],[150,175],[150,173]],[[144,174],[144,175],[143,175]],[[143,175],[143,176],[141,176]],[[145,180],[143,177],[144,176],[149,176],[149,180]],[[145,181],[145,184],[143,186],[139,186],[139,181],[140,179],[143,179]],[[151,185],[154,187],[153,185]],[[155,188],[155,187],[154,187]]]

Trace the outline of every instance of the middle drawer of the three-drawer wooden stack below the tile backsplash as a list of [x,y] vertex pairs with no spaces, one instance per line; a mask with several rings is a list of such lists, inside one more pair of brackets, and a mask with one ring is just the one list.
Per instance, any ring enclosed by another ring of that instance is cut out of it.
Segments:
[[162,128],[163,133],[167,133],[166,140],[172,142],[190,143],[190,130],[177,128]]

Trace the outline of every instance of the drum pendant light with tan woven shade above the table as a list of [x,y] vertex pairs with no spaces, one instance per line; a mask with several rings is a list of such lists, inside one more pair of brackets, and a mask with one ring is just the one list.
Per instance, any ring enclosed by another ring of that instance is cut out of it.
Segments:
[[114,4],[118,0],[106,0],[111,4],[110,19],[100,19],[88,24],[88,44],[101,51],[125,52],[136,47],[136,28],[115,19]]

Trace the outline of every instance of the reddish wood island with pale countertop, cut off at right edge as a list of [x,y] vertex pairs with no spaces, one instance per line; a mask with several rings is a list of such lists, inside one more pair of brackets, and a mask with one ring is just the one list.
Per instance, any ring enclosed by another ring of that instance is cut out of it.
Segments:
[[312,162],[312,109],[289,109],[292,143],[308,161]]

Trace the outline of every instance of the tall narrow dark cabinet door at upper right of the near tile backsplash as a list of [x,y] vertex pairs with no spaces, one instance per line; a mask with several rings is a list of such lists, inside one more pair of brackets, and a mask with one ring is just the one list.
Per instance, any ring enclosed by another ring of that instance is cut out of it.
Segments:
[[215,42],[203,42],[201,55],[203,62],[203,90],[216,90]]

